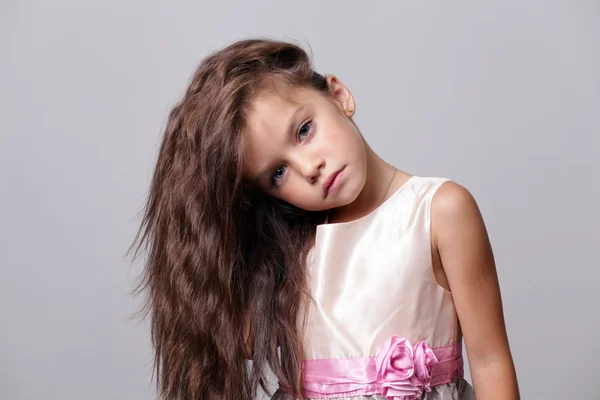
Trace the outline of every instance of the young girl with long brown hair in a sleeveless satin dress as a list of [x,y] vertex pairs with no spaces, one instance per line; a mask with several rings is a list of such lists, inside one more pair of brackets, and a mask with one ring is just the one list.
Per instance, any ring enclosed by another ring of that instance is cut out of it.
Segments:
[[291,43],[201,63],[136,238],[163,399],[251,399],[268,368],[279,399],[472,399],[463,334],[477,399],[519,397],[475,201],[378,157],[356,110]]

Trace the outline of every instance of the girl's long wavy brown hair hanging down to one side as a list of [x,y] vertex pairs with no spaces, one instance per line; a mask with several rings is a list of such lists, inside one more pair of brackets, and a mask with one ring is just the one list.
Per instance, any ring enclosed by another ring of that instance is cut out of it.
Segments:
[[147,253],[136,293],[162,399],[252,399],[267,367],[285,388],[273,398],[301,397],[305,260],[325,215],[244,179],[251,103],[273,83],[328,95],[301,47],[243,40],[205,58],[169,114],[130,248]]

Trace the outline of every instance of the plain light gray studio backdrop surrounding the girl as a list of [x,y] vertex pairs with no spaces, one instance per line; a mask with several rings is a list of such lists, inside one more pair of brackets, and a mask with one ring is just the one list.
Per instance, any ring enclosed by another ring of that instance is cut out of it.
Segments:
[[401,169],[486,219],[524,399],[598,398],[598,1],[2,1],[0,399],[150,399],[130,321],[168,109],[207,52],[310,43]]

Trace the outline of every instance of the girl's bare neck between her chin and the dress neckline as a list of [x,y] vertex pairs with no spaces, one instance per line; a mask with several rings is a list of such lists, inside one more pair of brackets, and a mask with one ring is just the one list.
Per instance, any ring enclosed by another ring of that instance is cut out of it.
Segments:
[[[394,192],[395,185],[391,181],[394,174],[394,166],[375,154],[368,144],[365,143],[365,147],[367,151],[367,177],[365,186],[352,203],[331,210],[329,222],[346,222],[361,218],[379,207]],[[394,181],[397,181],[398,176],[401,174],[405,173],[398,171]]]

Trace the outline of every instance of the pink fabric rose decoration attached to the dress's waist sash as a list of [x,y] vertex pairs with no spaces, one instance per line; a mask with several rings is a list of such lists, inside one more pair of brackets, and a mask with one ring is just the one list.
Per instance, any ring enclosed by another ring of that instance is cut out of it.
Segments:
[[433,350],[425,342],[416,346],[400,336],[392,336],[377,353],[377,381],[389,399],[421,398],[430,391],[431,369],[437,362]]

